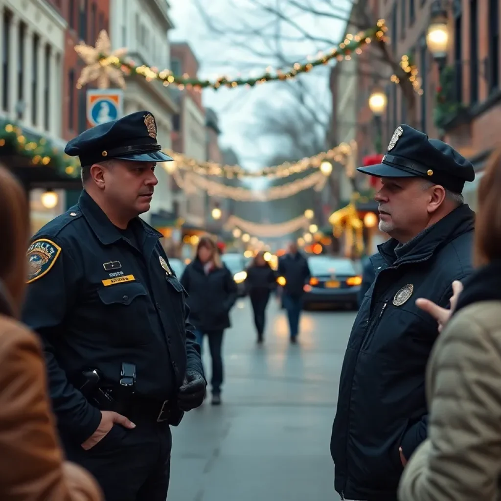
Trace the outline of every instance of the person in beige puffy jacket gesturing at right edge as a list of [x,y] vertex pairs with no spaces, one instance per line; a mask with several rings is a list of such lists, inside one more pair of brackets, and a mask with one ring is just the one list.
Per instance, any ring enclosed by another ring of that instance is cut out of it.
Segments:
[[[450,310],[418,306],[444,327],[427,367],[428,438],[407,463],[400,501],[501,499],[501,149],[480,181],[476,271]],[[450,317],[450,320],[449,320]]]

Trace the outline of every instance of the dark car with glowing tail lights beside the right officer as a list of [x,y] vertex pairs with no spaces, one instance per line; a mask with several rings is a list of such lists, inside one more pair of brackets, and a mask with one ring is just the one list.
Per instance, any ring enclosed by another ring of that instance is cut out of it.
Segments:
[[305,285],[304,308],[313,304],[358,309],[357,295],[362,277],[353,262],[333,256],[308,257],[310,282]]

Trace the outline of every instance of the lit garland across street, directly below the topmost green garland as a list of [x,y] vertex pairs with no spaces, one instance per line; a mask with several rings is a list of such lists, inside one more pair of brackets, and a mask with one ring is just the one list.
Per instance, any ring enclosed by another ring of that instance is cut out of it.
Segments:
[[169,156],[174,159],[174,162],[169,162],[166,166],[169,170],[175,168],[181,170],[192,171],[195,174],[202,176],[217,176],[225,177],[228,179],[238,178],[242,179],[244,177],[248,178],[283,178],[291,174],[298,174],[304,172],[310,168],[320,169],[322,162],[325,160],[333,160],[342,165],[345,165],[351,157],[354,155],[354,141],[350,144],[341,143],[335,148],[331,148],[328,151],[323,151],[309,158],[303,158],[298,162],[284,162],[281,165],[276,165],[273,167],[264,167],[257,171],[248,171],[243,169],[239,165],[221,165],[215,162],[200,162],[194,158],[183,155],[182,153],[176,153],[170,149],[164,150]]

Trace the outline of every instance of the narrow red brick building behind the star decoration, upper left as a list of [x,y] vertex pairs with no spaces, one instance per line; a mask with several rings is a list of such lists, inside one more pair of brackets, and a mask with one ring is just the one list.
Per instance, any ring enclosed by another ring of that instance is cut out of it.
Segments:
[[81,41],[94,46],[101,30],[109,32],[110,0],[52,0],[52,4],[68,24],[63,63],[62,120],[63,137],[69,140],[87,128],[87,86],[81,90],[76,88],[85,63],[74,48]]

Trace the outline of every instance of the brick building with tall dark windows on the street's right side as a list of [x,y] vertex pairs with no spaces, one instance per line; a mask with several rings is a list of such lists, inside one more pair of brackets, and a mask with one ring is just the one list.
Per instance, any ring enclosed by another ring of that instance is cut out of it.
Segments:
[[[376,47],[371,46],[358,56],[356,140],[359,161],[376,152],[374,138],[378,126],[368,99],[372,89],[378,86],[388,98],[380,121],[383,150],[398,124],[407,123],[430,137],[442,137],[469,158],[479,172],[478,180],[488,153],[498,141],[496,125],[501,107],[499,0],[442,0],[447,12],[449,44],[441,71],[426,44],[432,4],[432,0],[363,0],[358,4],[359,9],[372,13],[374,22],[385,19],[394,61],[398,63],[407,55],[417,65],[423,90],[422,96],[414,93],[411,101],[405,99],[401,86],[390,81],[393,70],[388,64],[381,64]],[[352,19],[357,17],[356,9],[354,7]],[[345,62],[342,66],[346,66]],[[333,78],[335,80],[336,73]],[[440,91],[439,99],[437,91]],[[333,111],[338,114],[337,102],[342,96],[336,98]],[[464,191],[473,207],[477,180],[468,183]]]

